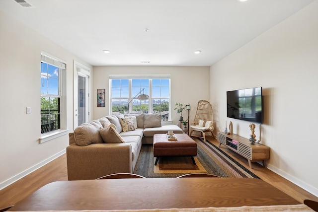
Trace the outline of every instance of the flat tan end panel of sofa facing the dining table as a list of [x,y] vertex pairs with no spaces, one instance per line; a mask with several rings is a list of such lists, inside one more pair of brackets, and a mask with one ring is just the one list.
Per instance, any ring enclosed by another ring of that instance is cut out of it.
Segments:
[[127,172],[132,173],[132,147],[129,143],[93,143],[66,148],[69,180],[88,180]]

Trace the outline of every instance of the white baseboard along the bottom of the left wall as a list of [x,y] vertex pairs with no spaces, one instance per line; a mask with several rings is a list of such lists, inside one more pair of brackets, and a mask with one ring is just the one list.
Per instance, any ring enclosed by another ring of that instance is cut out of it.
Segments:
[[35,170],[41,168],[41,167],[44,166],[45,164],[47,164],[47,163],[51,162],[52,160],[58,158],[59,156],[63,155],[65,152],[66,152],[66,149],[64,149],[64,150],[58,152],[57,154],[55,154],[55,155],[53,155],[53,156],[51,156],[51,157],[49,157],[49,158],[43,160],[42,162],[40,162],[40,163],[38,163],[38,164],[36,164],[36,165],[34,165],[34,166],[28,168],[27,170],[25,170],[25,171],[23,171],[23,172],[21,172],[21,173],[15,175],[14,177],[11,177],[10,179],[8,179],[8,180],[6,180],[6,181],[0,183],[0,190],[2,190],[2,189],[4,189],[5,187],[11,185],[12,183],[18,181],[19,179],[25,177],[26,175],[28,175],[28,174],[34,172]]

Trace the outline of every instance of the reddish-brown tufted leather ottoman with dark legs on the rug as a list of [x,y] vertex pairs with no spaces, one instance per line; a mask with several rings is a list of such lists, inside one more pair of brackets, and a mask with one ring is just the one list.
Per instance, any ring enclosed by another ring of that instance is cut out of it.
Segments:
[[165,134],[154,135],[155,165],[161,156],[191,156],[195,164],[193,156],[197,155],[197,143],[187,134],[175,134],[175,137],[178,141],[168,141]]

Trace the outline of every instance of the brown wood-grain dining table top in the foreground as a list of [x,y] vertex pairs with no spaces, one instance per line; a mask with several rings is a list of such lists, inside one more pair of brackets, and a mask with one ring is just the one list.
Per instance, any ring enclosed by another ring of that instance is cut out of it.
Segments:
[[255,178],[145,178],[57,181],[10,211],[141,210],[301,204]]

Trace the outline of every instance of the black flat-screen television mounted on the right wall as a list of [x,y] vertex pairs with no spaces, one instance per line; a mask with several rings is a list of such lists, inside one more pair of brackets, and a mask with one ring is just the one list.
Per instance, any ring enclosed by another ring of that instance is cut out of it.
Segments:
[[227,117],[263,123],[262,87],[227,91]]

